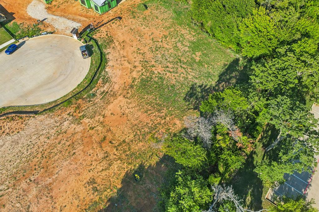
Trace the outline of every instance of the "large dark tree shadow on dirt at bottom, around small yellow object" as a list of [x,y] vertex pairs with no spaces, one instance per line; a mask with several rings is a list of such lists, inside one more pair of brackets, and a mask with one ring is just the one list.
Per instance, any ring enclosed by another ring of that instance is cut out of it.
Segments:
[[166,183],[167,170],[173,166],[174,160],[164,156],[154,166],[145,167],[141,164],[137,169],[127,172],[121,188],[107,200],[108,206],[99,212],[153,211],[160,198],[158,188]]

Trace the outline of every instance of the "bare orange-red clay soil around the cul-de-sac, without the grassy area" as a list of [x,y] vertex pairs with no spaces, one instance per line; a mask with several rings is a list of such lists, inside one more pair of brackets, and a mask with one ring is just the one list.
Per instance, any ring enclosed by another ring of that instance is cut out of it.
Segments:
[[[34,22],[26,14],[30,2],[1,0],[19,23]],[[54,0],[48,5],[49,13],[82,26],[116,16],[123,19],[94,35],[100,43],[106,37],[113,38],[105,52],[107,67],[92,91],[95,97],[84,97],[53,113],[0,119],[1,211],[96,211],[102,206],[115,207],[108,200],[125,186],[130,204],[138,211],[154,207],[156,183],[146,180],[137,190],[131,189],[135,185],[132,172],[142,164],[160,182],[165,170],[157,157],[161,153],[147,138],[154,132],[181,129],[183,124],[182,117],[164,117],[161,113],[167,109],[154,111],[132,95],[130,85],[142,70],[136,49],[145,52],[143,59],[155,64],[157,52],[149,51],[152,40],[167,35],[160,27],[166,24],[160,18],[162,10],[153,11],[158,18],[152,26],[136,23],[130,8],[138,3],[127,0],[102,16],[72,0]],[[132,28],[137,33],[131,33]],[[185,32],[185,36],[192,35]],[[168,52],[172,51],[169,42],[162,44]],[[154,67],[154,71],[162,70]],[[105,81],[106,75],[109,80]]]

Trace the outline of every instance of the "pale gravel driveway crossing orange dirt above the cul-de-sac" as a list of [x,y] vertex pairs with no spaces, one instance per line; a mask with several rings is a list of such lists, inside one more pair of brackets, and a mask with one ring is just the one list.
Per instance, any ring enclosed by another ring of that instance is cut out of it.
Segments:
[[75,21],[71,21],[67,18],[51,15],[45,9],[45,4],[39,0],[33,0],[26,9],[26,12],[32,17],[39,20],[45,20],[49,24],[52,24],[56,29],[64,31],[66,33],[71,32],[73,27],[79,28],[81,24]]

